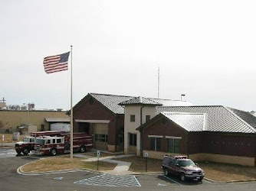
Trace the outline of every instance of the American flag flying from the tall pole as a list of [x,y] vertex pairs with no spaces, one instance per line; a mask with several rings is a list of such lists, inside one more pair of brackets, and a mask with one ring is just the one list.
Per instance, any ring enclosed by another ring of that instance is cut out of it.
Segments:
[[46,73],[57,73],[67,70],[69,53],[44,58],[44,70]]

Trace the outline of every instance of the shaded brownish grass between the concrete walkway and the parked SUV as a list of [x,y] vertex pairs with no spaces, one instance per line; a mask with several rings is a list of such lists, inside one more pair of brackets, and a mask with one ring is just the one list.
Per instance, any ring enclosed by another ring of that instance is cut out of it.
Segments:
[[[136,173],[145,173],[146,172],[146,158],[143,157],[123,157],[115,160],[121,160],[125,162],[132,163],[130,166],[130,171]],[[162,169],[162,160],[148,158],[147,161],[147,172],[161,172]]]

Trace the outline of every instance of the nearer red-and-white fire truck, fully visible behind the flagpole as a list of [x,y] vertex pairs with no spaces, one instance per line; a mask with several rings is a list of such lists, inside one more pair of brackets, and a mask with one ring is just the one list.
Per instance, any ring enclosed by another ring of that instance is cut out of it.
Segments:
[[[90,151],[93,147],[93,138],[87,133],[73,134],[73,151]],[[71,134],[61,134],[54,137],[41,136],[36,138],[34,152],[36,154],[64,154],[71,150]]]

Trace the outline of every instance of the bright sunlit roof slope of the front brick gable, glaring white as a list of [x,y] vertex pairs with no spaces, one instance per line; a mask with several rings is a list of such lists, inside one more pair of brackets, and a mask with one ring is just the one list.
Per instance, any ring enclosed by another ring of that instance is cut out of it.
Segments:
[[205,114],[182,112],[161,112],[161,114],[174,121],[186,131],[205,131]]

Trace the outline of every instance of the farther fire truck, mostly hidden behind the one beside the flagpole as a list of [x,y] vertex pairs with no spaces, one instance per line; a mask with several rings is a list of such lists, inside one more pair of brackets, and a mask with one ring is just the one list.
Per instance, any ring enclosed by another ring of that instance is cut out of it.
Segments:
[[31,132],[30,136],[25,136],[22,141],[15,144],[15,150],[18,154],[28,154],[30,151],[34,151],[35,138],[40,136],[57,136],[64,134],[66,131],[38,131]]

